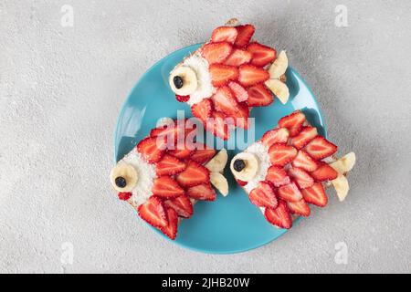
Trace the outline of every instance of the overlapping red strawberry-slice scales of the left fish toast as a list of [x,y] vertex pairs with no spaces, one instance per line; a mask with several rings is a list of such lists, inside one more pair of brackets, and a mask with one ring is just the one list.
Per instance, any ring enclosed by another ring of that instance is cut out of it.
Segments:
[[[202,143],[195,143],[191,147],[184,143],[182,147],[176,136],[183,135],[185,139],[190,132],[185,130],[185,123],[178,122],[174,126],[160,126],[151,130],[150,136],[140,141],[132,151],[138,151],[142,159],[155,169],[152,196],[145,202],[136,204],[131,192],[119,193],[119,198],[131,203],[144,221],[173,240],[181,218],[193,215],[193,204],[198,200],[215,201],[214,187],[218,190],[218,186],[213,187],[210,182],[211,171],[205,167],[216,156],[216,150]],[[165,143],[166,138],[173,142]],[[124,162],[117,165],[121,163]],[[216,162],[214,165],[216,166]],[[220,165],[219,168],[224,169],[225,165]]]

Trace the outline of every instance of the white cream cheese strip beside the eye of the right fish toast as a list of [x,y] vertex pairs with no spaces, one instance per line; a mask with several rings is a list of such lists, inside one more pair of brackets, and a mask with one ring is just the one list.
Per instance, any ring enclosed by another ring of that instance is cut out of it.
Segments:
[[269,161],[269,147],[260,141],[251,144],[245,152],[254,154],[258,160],[258,172],[256,176],[244,186],[247,193],[250,193],[258,186],[259,182],[266,180],[271,162]]

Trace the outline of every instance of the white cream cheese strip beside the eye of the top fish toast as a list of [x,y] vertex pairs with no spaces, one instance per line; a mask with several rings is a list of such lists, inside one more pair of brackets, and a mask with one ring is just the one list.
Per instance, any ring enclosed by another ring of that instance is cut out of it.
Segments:
[[195,71],[198,82],[197,89],[195,89],[195,92],[190,95],[190,99],[187,101],[190,107],[203,99],[210,98],[216,92],[216,89],[211,83],[208,62],[204,57],[201,57],[199,53],[185,58],[183,66],[192,68]]

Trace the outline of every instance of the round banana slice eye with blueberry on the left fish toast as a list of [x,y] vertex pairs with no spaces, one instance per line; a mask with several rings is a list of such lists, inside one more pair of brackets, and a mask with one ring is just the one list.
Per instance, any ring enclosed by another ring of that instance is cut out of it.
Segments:
[[111,185],[117,192],[132,192],[138,180],[138,174],[132,165],[119,163],[111,170]]

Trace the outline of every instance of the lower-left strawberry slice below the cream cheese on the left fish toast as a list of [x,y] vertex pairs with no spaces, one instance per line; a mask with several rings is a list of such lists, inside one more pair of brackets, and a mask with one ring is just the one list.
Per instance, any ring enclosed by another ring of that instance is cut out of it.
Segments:
[[146,203],[138,207],[137,212],[144,221],[154,227],[163,227],[168,224],[163,201],[159,197],[151,196]]

